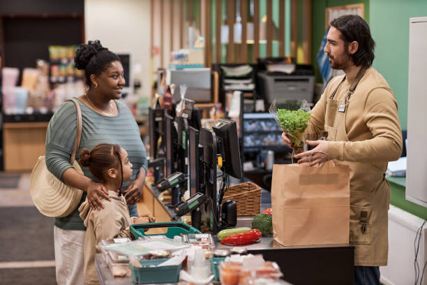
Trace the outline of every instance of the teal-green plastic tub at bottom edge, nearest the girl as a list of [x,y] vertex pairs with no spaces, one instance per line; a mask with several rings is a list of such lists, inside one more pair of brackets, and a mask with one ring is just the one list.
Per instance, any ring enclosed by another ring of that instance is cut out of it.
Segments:
[[167,261],[167,259],[153,259],[140,261],[142,268],[136,268],[132,263],[130,271],[132,272],[132,281],[135,284],[157,284],[157,283],[175,283],[179,279],[181,264],[150,267]]

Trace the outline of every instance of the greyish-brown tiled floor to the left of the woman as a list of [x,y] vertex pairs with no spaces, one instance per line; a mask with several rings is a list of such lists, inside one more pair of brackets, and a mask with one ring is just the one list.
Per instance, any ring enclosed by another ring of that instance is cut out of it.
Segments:
[[[30,173],[21,173],[17,188],[0,185],[0,212],[3,213],[0,219],[0,284],[56,284],[53,220],[38,216],[31,200],[29,181]],[[39,223],[31,224],[31,233],[29,222]]]

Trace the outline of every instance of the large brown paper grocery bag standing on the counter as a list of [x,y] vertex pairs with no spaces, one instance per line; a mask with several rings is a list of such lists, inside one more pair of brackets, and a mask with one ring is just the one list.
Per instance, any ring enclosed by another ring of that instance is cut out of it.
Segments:
[[348,243],[350,168],[275,164],[271,181],[274,240],[285,246]]

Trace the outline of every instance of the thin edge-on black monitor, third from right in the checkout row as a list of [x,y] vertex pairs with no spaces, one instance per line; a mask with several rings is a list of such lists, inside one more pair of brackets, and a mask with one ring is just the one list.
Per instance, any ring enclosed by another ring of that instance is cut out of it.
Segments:
[[200,131],[190,126],[188,128],[188,156],[190,166],[190,196],[200,191]]

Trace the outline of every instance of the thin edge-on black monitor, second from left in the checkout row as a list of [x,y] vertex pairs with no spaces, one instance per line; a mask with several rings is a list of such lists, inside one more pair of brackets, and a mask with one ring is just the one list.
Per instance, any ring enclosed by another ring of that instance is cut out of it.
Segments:
[[178,134],[174,118],[165,115],[166,177],[177,171]]

